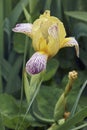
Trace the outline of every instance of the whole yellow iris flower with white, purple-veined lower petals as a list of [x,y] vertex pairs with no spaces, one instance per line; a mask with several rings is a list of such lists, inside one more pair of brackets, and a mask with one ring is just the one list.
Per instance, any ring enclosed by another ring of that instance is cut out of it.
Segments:
[[36,51],[26,63],[28,74],[38,74],[46,69],[47,60],[55,56],[63,47],[75,46],[79,56],[79,46],[74,37],[66,38],[63,23],[56,17],[50,16],[50,11],[31,23],[20,23],[13,28],[14,32],[24,33],[32,39]]

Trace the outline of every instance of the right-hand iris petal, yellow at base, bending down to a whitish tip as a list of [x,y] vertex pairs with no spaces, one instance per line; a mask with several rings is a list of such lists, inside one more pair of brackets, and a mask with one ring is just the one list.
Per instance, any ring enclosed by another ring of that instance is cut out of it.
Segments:
[[76,54],[79,57],[79,45],[74,37],[65,38],[60,48],[73,46],[75,46]]

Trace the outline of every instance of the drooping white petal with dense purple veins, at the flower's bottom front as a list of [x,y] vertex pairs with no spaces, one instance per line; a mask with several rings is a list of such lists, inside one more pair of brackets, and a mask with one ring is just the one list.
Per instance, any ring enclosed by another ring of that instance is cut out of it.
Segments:
[[26,71],[28,74],[38,74],[46,69],[48,56],[46,54],[36,52],[26,63]]

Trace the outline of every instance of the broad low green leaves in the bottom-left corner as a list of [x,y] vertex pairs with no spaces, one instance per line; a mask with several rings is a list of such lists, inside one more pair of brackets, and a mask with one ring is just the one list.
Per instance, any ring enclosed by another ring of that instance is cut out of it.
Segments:
[[[18,121],[19,123],[21,123],[22,120],[24,119],[27,105],[25,103],[22,105],[21,109],[22,111],[21,114],[19,115],[19,106],[20,106],[19,102],[15,100],[12,96],[8,94],[1,94],[0,104],[2,104],[0,107],[0,113],[1,113],[0,118],[2,118],[3,124],[8,128],[15,129]],[[24,130],[30,125],[38,126],[40,124],[37,123],[30,114],[27,114],[25,120],[20,126],[20,130],[22,129]]]

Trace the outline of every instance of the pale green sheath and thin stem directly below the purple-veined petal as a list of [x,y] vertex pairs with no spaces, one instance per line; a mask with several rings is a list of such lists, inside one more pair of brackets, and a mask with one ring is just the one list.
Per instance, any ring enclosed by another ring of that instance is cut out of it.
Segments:
[[[40,89],[40,86],[41,86],[41,83],[42,83],[42,80],[43,80],[42,77],[43,77],[42,73],[39,73],[38,75],[32,76],[31,80],[30,80],[30,84],[28,84],[28,82],[26,82],[26,80],[24,80],[25,94],[26,94],[26,97],[27,97],[28,108],[27,108],[27,111],[25,113],[25,116],[24,116],[23,120],[21,121],[21,124],[18,127],[18,130],[21,128],[21,125],[23,124],[23,122],[24,122],[24,120],[26,118],[26,115],[28,114],[28,112],[29,112],[29,110],[31,108],[31,105],[32,105],[34,99],[37,96],[37,93],[38,93],[38,91]],[[26,93],[26,85],[28,85],[27,86],[27,91],[29,93]]]

